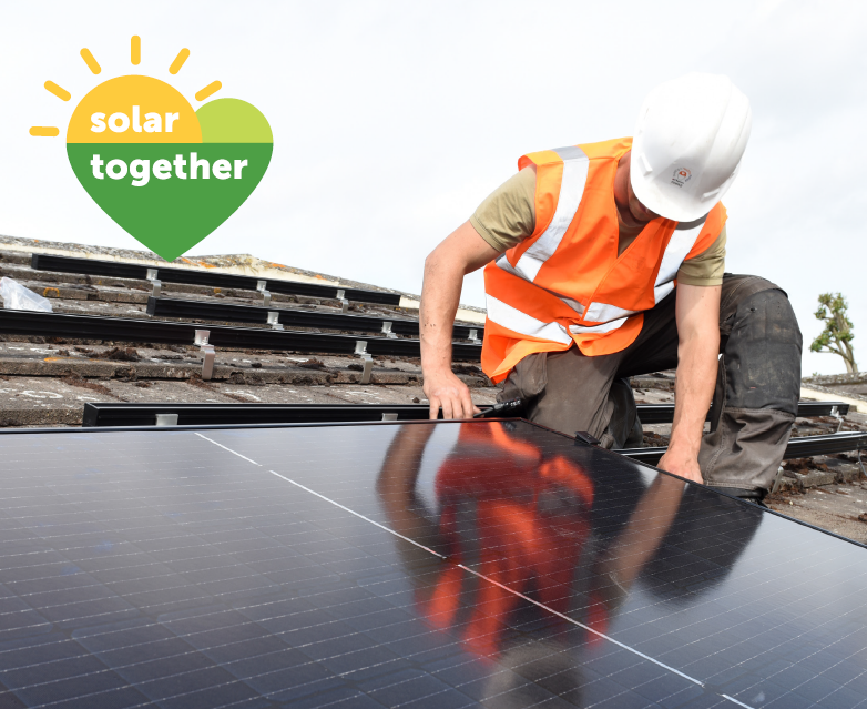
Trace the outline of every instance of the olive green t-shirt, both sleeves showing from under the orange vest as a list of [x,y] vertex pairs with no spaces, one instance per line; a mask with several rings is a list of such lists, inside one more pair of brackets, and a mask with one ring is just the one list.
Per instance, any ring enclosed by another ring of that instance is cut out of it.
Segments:
[[[500,253],[530,236],[536,229],[536,172],[521,170],[509,178],[479,205],[470,216],[470,224]],[[677,282],[721,285],[724,271],[725,226],[705,251],[683,262]]]

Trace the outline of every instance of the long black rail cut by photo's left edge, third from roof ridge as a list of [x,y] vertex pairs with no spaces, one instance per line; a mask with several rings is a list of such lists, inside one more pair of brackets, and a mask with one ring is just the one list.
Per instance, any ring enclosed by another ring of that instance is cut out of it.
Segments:
[[[195,331],[203,328],[205,326],[194,323],[0,310],[0,333],[14,335],[192,345]],[[418,357],[420,354],[418,340],[225,325],[207,325],[206,330],[211,333],[208,342],[216,347],[258,347],[351,355],[355,353],[356,343],[361,341],[367,343],[367,353],[371,355]],[[481,345],[456,342],[452,344],[452,357],[478,362],[481,357]]]

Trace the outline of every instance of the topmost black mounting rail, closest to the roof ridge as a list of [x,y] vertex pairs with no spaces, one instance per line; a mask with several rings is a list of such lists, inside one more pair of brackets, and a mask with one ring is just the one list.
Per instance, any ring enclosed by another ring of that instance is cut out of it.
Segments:
[[[206,285],[218,288],[241,288],[255,291],[257,283],[264,278],[253,276],[214,273],[193,269],[174,269],[172,266],[149,266],[116,261],[98,261],[96,259],[75,259],[74,256],[55,256],[52,254],[33,254],[31,269],[37,271],[53,271],[55,273],[80,273],[83,275],[114,276],[118,278],[146,280],[147,271],[156,269],[156,277],[163,283],[185,283],[190,285]],[[267,278],[267,290],[272,293],[286,295],[303,295],[306,297],[337,298],[337,291],[344,292],[344,297],[358,303],[379,303],[381,305],[400,305],[399,293],[367,291],[363,288],[345,288],[341,286],[317,285]]]

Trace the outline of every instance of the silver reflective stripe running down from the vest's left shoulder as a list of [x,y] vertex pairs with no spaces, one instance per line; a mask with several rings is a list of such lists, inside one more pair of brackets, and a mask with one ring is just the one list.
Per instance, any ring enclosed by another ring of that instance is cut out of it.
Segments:
[[560,182],[557,210],[548,229],[542,232],[532,246],[523,252],[516,265],[516,269],[531,283],[536,280],[544,262],[557,251],[565,230],[572,223],[584,194],[586,174],[590,169],[590,159],[577,145],[557,148],[553,152],[563,160],[563,179]]

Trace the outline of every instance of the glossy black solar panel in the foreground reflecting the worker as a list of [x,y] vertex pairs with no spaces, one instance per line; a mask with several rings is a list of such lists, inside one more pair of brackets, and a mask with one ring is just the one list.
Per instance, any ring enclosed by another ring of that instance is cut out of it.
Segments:
[[867,551],[526,423],[0,437],[2,707],[856,707]]

